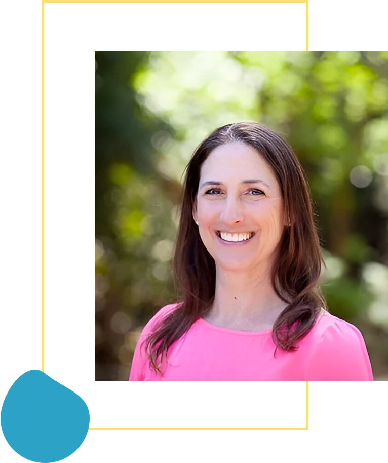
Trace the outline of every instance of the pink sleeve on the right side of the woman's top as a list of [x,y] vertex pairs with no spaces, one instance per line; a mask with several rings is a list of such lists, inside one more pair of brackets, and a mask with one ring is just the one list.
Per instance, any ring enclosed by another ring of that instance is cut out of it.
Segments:
[[312,345],[306,381],[372,381],[372,367],[360,331],[339,318]]

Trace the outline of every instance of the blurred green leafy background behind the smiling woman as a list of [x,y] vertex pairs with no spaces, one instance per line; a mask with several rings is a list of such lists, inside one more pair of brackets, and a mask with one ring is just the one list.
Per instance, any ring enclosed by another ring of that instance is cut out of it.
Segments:
[[388,379],[388,52],[95,53],[96,379],[127,380],[138,336],[177,299],[183,170],[215,128],[280,132],[312,190],[330,312]]

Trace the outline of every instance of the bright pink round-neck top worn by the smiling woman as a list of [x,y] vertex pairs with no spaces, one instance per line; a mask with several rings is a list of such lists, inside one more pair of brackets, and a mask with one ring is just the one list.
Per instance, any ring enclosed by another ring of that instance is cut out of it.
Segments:
[[179,304],[163,307],[144,327],[133,357],[130,381],[372,381],[360,331],[328,312],[294,352],[278,349],[271,333],[221,328],[199,318],[169,349],[164,376],[149,368],[140,348],[156,323]]

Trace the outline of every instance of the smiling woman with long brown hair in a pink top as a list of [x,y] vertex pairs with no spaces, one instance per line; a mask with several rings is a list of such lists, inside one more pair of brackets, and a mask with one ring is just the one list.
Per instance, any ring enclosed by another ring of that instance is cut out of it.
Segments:
[[373,380],[361,333],[327,311],[321,262],[291,147],[254,122],[216,129],[186,171],[174,254],[183,302],[144,328],[130,388],[143,380]]

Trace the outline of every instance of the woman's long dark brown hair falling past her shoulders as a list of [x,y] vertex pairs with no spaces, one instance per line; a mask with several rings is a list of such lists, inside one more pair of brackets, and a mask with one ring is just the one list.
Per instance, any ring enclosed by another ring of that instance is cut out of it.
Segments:
[[215,262],[201,240],[192,218],[192,208],[202,164],[212,150],[231,142],[254,148],[271,166],[281,188],[285,217],[289,219],[278,245],[278,259],[272,272],[273,287],[288,304],[273,327],[276,348],[295,350],[296,341],[313,328],[321,308],[326,309],[317,287],[323,260],[311,196],[295,153],[278,133],[256,122],[224,125],[201,143],[186,167],[173,259],[174,276],[180,283],[183,303],[161,320],[145,341],[150,365],[160,373],[169,347],[199,317],[206,315],[213,302]]

